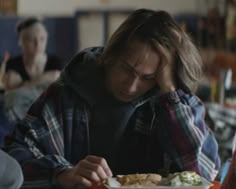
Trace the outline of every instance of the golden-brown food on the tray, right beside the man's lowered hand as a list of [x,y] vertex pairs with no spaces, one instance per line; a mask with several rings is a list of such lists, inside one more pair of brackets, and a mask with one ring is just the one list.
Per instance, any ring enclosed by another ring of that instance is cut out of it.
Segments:
[[161,175],[155,173],[117,176],[117,181],[122,186],[158,186],[161,179]]

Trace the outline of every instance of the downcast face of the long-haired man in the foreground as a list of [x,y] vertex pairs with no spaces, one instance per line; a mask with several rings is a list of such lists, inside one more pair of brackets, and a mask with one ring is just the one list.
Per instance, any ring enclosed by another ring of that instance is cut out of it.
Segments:
[[107,69],[107,86],[120,101],[129,102],[156,85],[160,56],[147,45],[134,41]]

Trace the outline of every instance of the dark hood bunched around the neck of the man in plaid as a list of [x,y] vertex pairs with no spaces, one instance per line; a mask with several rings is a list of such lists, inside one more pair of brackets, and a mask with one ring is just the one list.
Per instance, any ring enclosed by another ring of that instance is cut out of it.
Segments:
[[[61,79],[64,84],[72,87],[91,106],[104,98],[118,101],[109,94],[105,87],[105,68],[104,65],[98,63],[103,50],[103,47],[84,49],[66,65],[62,72]],[[156,94],[156,89],[151,90],[130,103],[140,106]]]

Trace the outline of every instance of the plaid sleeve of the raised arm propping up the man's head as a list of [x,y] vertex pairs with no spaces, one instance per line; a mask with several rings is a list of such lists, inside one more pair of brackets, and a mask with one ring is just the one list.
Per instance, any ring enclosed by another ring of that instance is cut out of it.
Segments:
[[218,144],[204,121],[200,99],[182,90],[165,93],[157,112],[163,121],[160,126],[165,149],[180,170],[196,171],[214,180],[220,167]]

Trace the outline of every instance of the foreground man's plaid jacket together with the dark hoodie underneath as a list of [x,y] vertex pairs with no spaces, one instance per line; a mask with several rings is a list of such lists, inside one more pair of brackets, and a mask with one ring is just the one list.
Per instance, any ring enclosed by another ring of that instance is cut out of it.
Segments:
[[17,125],[9,153],[23,168],[24,185],[50,187],[55,174],[88,154],[104,157],[115,175],[192,170],[213,180],[218,145],[199,98],[153,89],[120,102],[106,90],[102,52],[78,53]]

